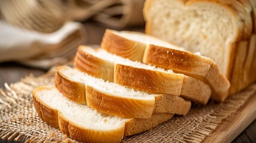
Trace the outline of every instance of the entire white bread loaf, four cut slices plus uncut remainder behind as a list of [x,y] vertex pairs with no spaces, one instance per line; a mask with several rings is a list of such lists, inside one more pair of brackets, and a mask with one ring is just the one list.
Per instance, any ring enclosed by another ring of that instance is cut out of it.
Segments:
[[79,46],[76,69],[57,67],[55,88],[33,91],[35,109],[77,141],[120,142],[186,115],[190,101],[224,101],[256,80],[255,8],[254,0],[146,0],[146,33],[157,38],[106,30],[102,49]]

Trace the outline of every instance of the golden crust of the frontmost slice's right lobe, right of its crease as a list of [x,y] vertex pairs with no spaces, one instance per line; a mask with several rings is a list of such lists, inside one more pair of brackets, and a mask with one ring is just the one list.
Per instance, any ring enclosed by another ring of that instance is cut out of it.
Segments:
[[77,125],[79,123],[65,119],[60,113],[58,114],[58,122],[62,133],[79,142],[121,142],[125,130],[125,125],[119,129],[106,131],[85,129]]

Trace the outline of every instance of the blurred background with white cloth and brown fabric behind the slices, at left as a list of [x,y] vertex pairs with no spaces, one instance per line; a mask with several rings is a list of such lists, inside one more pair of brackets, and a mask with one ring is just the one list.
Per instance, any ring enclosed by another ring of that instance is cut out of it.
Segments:
[[78,45],[99,46],[105,29],[144,32],[143,4],[144,0],[1,0],[0,87],[72,60]]

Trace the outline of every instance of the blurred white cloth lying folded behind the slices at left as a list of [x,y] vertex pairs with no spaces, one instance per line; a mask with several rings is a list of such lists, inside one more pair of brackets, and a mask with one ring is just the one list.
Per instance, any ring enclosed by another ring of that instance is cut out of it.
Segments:
[[48,69],[72,57],[85,43],[82,24],[69,22],[53,33],[19,29],[0,21],[0,62],[19,61]]

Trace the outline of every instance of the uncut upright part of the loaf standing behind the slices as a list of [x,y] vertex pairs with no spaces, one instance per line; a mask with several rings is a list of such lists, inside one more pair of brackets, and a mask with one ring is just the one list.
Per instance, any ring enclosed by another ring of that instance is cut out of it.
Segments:
[[144,4],[146,33],[214,60],[231,82],[230,94],[256,80],[255,11],[254,0],[147,0]]

